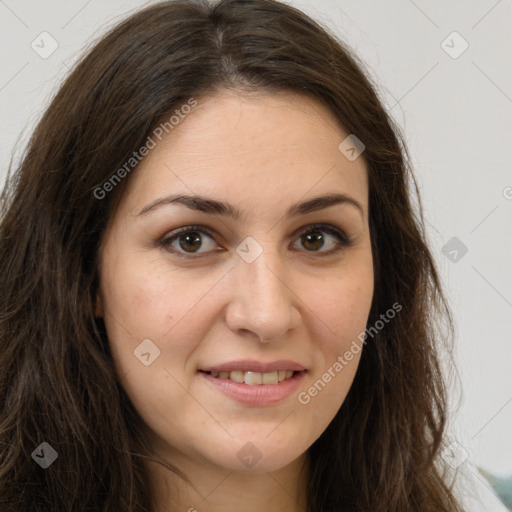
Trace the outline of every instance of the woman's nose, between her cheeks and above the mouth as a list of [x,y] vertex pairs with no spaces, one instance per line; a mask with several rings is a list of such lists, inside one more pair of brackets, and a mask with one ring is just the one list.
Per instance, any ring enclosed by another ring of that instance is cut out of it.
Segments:
[[300,324],[291,270],[270,250],[252,263],[240,258],[230,272],[232,300],[226,322],[238,335],[252,334],[261,343],[279,341]]

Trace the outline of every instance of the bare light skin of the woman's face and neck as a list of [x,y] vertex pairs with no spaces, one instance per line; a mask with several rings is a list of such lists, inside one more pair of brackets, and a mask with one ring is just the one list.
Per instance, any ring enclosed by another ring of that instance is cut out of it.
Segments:
[[[96,314],[152,448],[191,480],[148,462],[159,512],[306,509],[307,449],[343,403],[360,353],[310,403],[297,395],[365,330],[373,296],[367,169],[363,157],[349,161],[338,150],[347,136],[306,96],[217,93],[198,99],[130,176],[100,249]],[[363,211],[338,204],[283,217],[290,205],[333,192]],[[139,215],[176,193],[231,203],[242,217],[179,204]],[[308,243],[314,223],[338,227],[352,245],[325,231],[323,245]],[[200,233],[192,248],[183,236],[182,245],[159,245],[190,225],[214,236]],[[263,251],[252,263],[236,252],[248,236]],[[134,356],[144,339],[160,350],[148,366]],[[290,397],[249,406],[198,373],[235,359],[290,359],[307,373]],[[237,457],[248,442],[261,454],[252,467]]]

